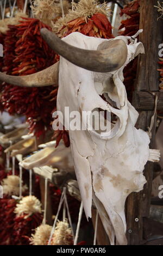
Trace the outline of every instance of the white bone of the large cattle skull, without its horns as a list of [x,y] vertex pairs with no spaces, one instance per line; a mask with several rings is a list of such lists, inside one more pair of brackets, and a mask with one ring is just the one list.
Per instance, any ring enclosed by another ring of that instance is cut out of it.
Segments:
[[[115,237],[118,245],[126,245],[124,203],[131,192],[141,191],[146,183],[143,169],[149,160],[150,141],[145,131],[135,128],[139,114],[129,103],[123,84],[124,66],[139,53],[144,53],[144,48],[137,40],[128,44],[129,38],[118,36],[118,39],[125,42],[128,53],[126,62],[116,71],[91,72],[60,57],[57,108],[64,113],[68,106],[70,113],[79,111],[81,114],[82,111],[102,109],[117,116],[110,134],[89,130],[69,133],[86,217],[91,217],[93,198],[111,245],[114,245]],[[109,41],[77,32],[62,40],[88,50],[97,50],[101,43]],[[107,102],[100,96],[103,94]],[[64,119],[68,124],[66,115]]]

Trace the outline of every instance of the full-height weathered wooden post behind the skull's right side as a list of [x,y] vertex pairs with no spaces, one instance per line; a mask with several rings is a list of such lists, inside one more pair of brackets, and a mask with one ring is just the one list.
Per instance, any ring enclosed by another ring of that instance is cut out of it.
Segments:
[[[145,46],[145,54],[140,54],[137,69],[137,91],[155,92],[159,90],[158,52],[162,43],[162,21],[157,21],[158,12],[154,5],[157,0],[141,0],[140,4],[140,41]],[[133,102],[136,107],[136,103]],[[153,111],[141,111],[137,127],[147,131],[150,125]],[[153,148],[155,140],[155,125],[152,131],[150,148]],[[153,177],[153,163],[148,162],[144,175],[147,184],[140,193],[132,193],[127,200],[127,237],[128,245],[140,245],[143,242],[143,217],[149,217],[151,204],[151,188]]]

